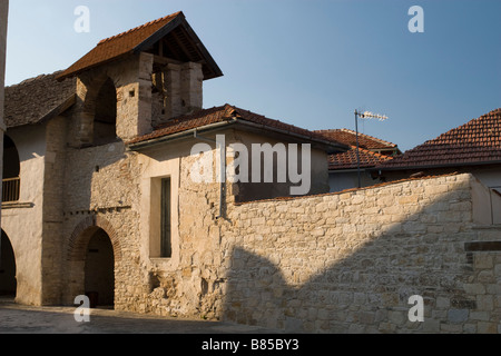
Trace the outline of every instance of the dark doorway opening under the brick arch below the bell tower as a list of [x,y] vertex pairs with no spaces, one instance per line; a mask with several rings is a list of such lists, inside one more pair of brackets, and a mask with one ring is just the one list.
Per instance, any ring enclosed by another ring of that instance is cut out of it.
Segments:
[[115,257],[111,240],[102,229],[90,237],[85,263],[85,291],[91,305],[112,307],[115,301]]

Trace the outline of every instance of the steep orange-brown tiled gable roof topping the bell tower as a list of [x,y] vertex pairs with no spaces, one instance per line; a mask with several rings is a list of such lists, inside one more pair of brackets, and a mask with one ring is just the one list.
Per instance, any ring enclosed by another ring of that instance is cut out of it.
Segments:
[[[84,70],[109,62],[125,55],[146,50],[147,48],[143,47],[153,46],[151,39],[158,41],[161,38],[156,38],[158,33],[160,33],[160,36],[167,36],[169,31],[174,30],[179,24],[183,24],[185,30],[189,32],[188,36],[190,36],[191,40],[196,43],[196,49],[191,48],[191,50],[200,52],[203,56],[205,56],[204,58],[197,57],[197,60],[205,61],[205,73],[207,73],[207,65],[210,65],[213,66],[213,71],[207,76],[209,76],[210,78],[222,76],[219,68],[217,68],[217,65],[214,62],[210,55],[206,51],[204,44],[199,41],[195,32],[193,32],[193,30],[189,28],[189,24],[187,24],[187,22],[185,21],[185,16],[183,14],[183,12],[179,11],[166,16],[161,19],[157,19],[137,28],[130,29],[117,36],[112,36],[110,38],[101,40],[90,52],[85,55],[76,63],[65,70],[60,75],[60,78],[77,75]],[[146,46],[146,43],[148,46]],[[188,46],[186,48],[188,48]],[[186,59],[189,60],[189,58]]]

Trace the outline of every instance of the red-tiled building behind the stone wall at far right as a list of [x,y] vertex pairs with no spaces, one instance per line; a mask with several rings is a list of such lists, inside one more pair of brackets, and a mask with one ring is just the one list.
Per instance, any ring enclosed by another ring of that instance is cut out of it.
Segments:
[[480,192],[487,201],[484,222],[501,224],[501,108],[428,140],[392,161],[380,162],[371,175],[392,181],[451,172],[472,174],[485,186]]

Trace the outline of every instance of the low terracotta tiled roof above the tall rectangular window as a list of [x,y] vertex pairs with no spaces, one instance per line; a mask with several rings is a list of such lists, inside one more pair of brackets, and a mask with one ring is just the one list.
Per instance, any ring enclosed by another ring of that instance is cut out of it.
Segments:
[[186,130],[195,129],[195,128],[203,128],[204,126],[216,123],[216,122],[224,122],[233,117],[237,118],[238,121],[247,121],[252,122],[254,125],[259,126],[264,129],[269,130],[279,130],[281,132],[288,134],[288,135],[299,135],[305,138],[308,138],[311,140],[316,140],[320,142],[328,144],[331,146],[337,146],[340,150],[347,149],[346,146],[338,144],[333,140],[327,140],[322,135],[315,134],[313,131],[302,129],[299,127],[288,125],[278,120],[266,118],[262,115],[239,109],[237,107],[230,106],[228,103],[220,106],[220,107],[214,107],[210,109],[203,109],[198,110],[191,115],[185,115],[175,119],[169,120],[166,123],[163,123],[155,128],[155,130],[151,134],[137,137],[136,139],[132,139],[128,142],[128,145],[134,145],[138,142],[145,142],[149,140],[155,140],[161,137],[166,137],[169,135],[183,132]]

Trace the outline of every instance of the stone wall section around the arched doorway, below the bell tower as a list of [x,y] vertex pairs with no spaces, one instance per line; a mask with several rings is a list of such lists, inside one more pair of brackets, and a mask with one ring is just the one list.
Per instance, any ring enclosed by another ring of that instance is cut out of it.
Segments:
[[[122,142],[68,149],[63,195],[61,251],[62,301],[72,304],[84,294],[87,244],[102,229],[114,245],[115,305],[135,305],[147,287],[139,248],[137,155]],[[145,277],[146,276],[146,277]],[[146,286],[146,287],[145,287]]]

